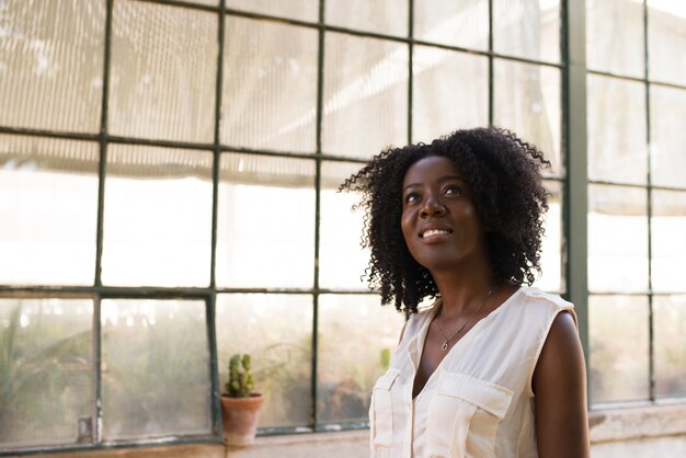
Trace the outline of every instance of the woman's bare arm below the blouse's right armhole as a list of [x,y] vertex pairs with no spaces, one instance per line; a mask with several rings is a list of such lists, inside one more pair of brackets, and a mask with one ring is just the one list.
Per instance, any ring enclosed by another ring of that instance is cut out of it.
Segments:
[[556,317],[534,371],[539,458],[588,458],[586,369],[570,313]]

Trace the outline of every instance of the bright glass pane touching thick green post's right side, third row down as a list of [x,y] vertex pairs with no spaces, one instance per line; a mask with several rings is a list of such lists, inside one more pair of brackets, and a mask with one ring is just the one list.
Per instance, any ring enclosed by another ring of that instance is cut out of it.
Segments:
[[648,289],[645,190],[588,186],[588,290]]

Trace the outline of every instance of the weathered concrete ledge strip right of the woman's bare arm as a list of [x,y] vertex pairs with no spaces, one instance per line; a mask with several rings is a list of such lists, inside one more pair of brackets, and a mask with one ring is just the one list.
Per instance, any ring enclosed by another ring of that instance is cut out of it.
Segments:
[[591,443],[686,435],[686,404],[658,404],[593,410]]

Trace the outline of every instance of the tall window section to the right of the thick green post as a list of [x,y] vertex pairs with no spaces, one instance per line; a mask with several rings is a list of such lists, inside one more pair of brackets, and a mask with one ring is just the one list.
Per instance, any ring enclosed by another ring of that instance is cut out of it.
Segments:
[[586,0],[593,404],[686,396],[686,8]]

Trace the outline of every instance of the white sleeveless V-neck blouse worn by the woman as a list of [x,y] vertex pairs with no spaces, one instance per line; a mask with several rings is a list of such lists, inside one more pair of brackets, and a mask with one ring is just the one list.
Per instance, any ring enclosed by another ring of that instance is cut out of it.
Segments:
[[438,301],[413,314],[369,409],[371,457],[535,458],[531,378],[552,321],[573,306],[521,287],[449,350],[412,399]]

